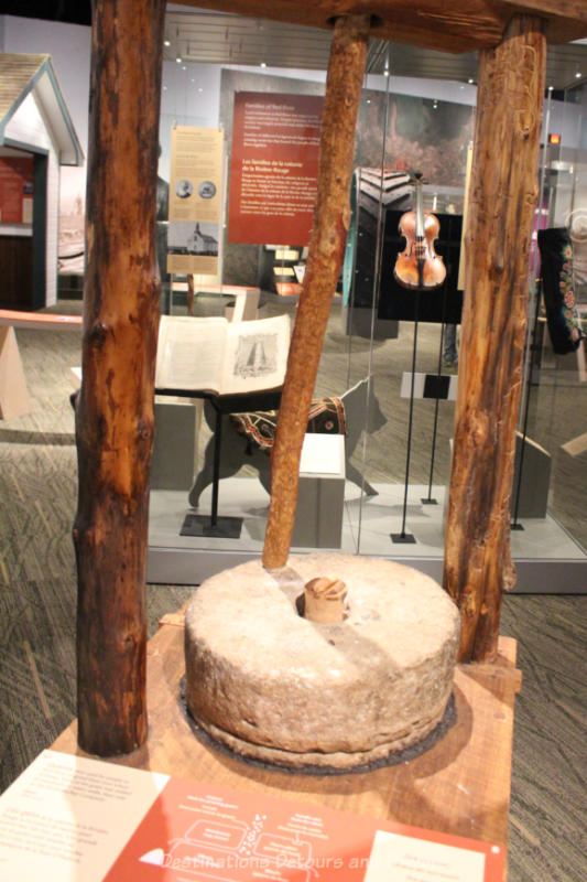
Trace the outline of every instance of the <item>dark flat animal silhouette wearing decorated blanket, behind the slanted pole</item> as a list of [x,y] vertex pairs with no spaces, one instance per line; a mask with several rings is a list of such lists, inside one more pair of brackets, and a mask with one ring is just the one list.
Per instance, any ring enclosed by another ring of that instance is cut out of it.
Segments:
[[[369,395],[368,395],[369,394]],[[359,441],[363,428],[371,434],[377,432],[385,424],[385,418],[379,407],[379,401],[373,391],[373,381],[369,385],[368,379],[359,380],[352,388],[340,396],[345,408],[345,460],[346,475],[349,481],[362,487],[367,496],[377,496],[377,491],[363,481],[357,466],[350,462],[355,448]],[[216,411],[209,401],[204,402],[204,418],[208,427],[214,432],[216,423]],[[367,422],[367,426],[366,426]],[[261,448],[252,448],[247,438],[227,421],[226,430],[222,431],[222,449],[220,455],[220,478],[232,477],[243,465],[256,469],[259,480],[264,490],[271,492],[271,462],[269,454]],[[214,475],[214,435],[210,438],[204,452],[204,465],[196,476],[194,485],[189,491],[188,499],[193,508],[197,508],[199,497],[209,484],[213,483]]]

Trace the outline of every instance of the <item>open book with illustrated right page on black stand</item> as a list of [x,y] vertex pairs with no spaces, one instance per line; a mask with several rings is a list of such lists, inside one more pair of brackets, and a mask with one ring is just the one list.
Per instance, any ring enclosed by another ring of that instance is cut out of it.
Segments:
[[159,326],[155,388],[238,395],[283,384],[290,319],[251,322],[163,315]]

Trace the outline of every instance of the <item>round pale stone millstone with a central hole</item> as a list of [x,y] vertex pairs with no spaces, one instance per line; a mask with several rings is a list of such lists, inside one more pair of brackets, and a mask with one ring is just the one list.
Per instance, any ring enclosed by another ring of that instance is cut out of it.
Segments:
[[[346,619],[300,614],[317,577],[347,588]],[[235,752],[290,767],[351,768],[412,747],[452,695],[459,615],[431,578],[389,560],[291,557],[207,579],[185,617],[186,701]]]

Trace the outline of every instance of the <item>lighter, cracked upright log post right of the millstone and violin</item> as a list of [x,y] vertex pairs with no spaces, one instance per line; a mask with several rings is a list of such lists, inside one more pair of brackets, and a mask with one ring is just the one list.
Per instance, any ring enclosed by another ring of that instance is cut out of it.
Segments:
[[541,19],[530,15],[480,53],[444,568],[464,662],[496,656],[502,591],[515,579],[510,494],[545,63]]

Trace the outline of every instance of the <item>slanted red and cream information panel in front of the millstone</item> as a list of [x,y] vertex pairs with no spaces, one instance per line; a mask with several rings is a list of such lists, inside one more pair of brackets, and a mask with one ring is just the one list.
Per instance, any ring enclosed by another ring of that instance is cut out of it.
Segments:
[[0,797],[2,879],[502,882],[503,848],[44,751]]

